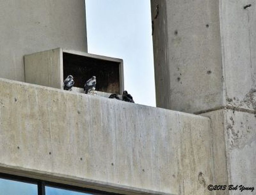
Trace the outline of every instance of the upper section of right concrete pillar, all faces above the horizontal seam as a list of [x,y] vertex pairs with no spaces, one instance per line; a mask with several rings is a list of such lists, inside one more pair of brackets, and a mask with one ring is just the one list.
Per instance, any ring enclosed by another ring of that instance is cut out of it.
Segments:
[[253,3],[151,0],[157,107],[189,113],[227,105],[256,110]]

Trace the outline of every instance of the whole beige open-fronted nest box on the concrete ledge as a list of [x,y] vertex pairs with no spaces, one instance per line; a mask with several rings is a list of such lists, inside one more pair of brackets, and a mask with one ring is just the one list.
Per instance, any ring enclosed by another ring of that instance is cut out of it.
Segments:
[[75,87],[96,76],[96,91],[121,94],[124,90],[123,60],[57,48],[24,56],[25,81],[63,89],[68,75]]

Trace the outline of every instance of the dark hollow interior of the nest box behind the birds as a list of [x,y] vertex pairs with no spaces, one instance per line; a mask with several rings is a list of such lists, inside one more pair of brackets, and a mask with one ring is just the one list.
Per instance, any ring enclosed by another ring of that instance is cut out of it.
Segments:
[[72,75],[75,87],[83,88],[88,79],[96,76],[96,91],[121,94],[123,91],[122,73],[121,59],[63,52],[63,78]]

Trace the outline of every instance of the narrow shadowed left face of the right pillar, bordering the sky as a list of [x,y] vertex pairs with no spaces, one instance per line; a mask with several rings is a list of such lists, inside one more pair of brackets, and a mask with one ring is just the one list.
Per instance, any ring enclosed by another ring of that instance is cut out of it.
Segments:
[[[160,12],[159,12],[160,10]],[[166,1],[151,0],[152,37],[155,67],[156,105],[161,108],[171,108],[170,104],[170,66],[168,53],[168,29]],[[159,93],[163,86],[165,90]]]

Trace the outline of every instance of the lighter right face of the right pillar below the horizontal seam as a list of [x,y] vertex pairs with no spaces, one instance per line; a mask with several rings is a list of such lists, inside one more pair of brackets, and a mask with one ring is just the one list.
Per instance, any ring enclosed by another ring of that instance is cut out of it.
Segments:
[[[255,188],[256,115],[225,110],[225,127],[229,183]],[[247,192],[247,194],[253,193]],[[233,192],[233,194],[241,193]]]

